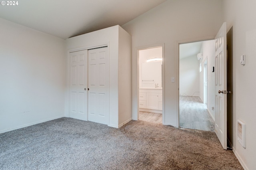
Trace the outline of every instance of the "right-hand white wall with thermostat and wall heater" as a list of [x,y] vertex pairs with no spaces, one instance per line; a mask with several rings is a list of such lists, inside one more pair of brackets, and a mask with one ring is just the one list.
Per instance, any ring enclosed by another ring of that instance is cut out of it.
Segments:
[[[246,169],[256,167],[256,1],[224,0],[224,20],[227,31],[233,26],[233,147]],[[240,65],[240,55],[246,55],[246,65]],[[246,123],[246,148],[236,139],[237,120]]]

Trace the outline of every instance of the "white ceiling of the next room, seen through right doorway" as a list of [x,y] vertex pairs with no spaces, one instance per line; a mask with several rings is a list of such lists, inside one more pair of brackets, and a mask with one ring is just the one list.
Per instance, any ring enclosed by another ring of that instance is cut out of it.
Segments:
[[180,59],[197,55],[201,51],[202,41],[180,44]]

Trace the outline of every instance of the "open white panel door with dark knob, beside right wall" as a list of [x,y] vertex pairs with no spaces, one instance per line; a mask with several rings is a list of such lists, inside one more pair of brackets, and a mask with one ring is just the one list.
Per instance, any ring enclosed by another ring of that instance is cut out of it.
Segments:
[[215,37],[215,133],[227,149],[227,37],[224,22]]

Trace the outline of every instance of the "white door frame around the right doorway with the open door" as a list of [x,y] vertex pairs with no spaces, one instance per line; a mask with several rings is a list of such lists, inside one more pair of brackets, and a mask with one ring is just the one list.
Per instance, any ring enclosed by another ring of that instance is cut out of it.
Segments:
[[180,44],[182,43],[192,43],[192,42],[200,42],[200,41],[207,41],[207,40],[214,40],[215,36],[207,36],[202,38],[193,38],[193,39],[187,39],[187,40],[179,40],[176,42],[176,49],[177,49],[177,83],[178,83],[178,90],[177,90],[177,120],[176,125],[180,127]]

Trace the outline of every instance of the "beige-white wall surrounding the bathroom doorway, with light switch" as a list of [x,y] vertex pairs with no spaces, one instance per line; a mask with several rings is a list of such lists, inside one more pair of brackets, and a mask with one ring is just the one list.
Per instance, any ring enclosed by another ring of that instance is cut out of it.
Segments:
[[138,119],[136,47],[164,43],[164,124],[178,127],[178,42],[214,37],[222,16],[222,0],[167,0],[122,26],[132,36],[133,119]]

